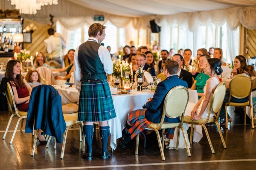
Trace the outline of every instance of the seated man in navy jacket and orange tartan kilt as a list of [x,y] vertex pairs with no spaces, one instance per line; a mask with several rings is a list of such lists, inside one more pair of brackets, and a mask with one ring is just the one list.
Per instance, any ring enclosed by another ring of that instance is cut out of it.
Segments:
[[[164,99],[172,88],[178,85],[188,88],[186,81],[179,79],[176,75],[178,68],[179,64],[176,61],[168,60],[164,63],[163,74],[166,79],[158,83],[153,98],[148,99],[143,109],[128,113],[128,120],[125,129],[122,131],[121,147],[124,148],[131,139],[141,133],[150,123],[160,123]],[[165,117],[164,122],[180,122],[180,118],[170,119]],[[169,129],[167,137],[172,139],[173,134],[174,129]]]

